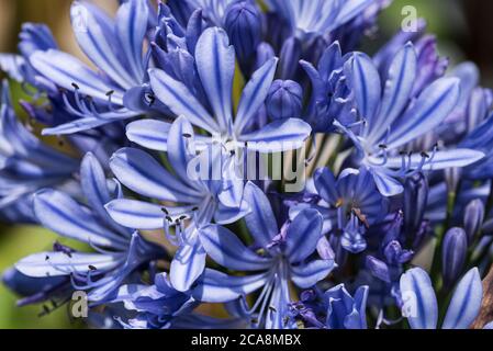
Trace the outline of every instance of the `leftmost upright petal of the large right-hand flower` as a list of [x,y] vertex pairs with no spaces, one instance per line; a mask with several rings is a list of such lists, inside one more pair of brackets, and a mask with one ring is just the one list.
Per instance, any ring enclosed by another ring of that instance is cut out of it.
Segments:
[[372,125],[380,106],[382,86],[380,75],[371,58],[357,53],[352,59],[351,86],[361,118]]

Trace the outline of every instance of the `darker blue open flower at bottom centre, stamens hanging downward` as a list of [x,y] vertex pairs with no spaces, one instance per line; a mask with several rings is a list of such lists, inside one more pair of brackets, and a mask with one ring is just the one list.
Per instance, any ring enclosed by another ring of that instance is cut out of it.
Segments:
[[246,247],[228,229],[210,225],[201,231],[209,256],[233,271],[256,272],[234,276],[208,269],[193,292],[203,302],[231,302],[261,288],[249,309],[255,326],[285,328],[289,313],[290,282],[307,288],[324,279],[334,268],[333,260],[311,259],[322,235],[322,216],[305,210],[279,228],[272,207],[262,191],[248,183],[246,201],[251,213],[245,217],[257,251]]

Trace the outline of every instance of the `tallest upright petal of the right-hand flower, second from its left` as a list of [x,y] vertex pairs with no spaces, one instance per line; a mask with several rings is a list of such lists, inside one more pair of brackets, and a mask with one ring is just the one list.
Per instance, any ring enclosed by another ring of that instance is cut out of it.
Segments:
[[380,141],[388,127],[404,111],[415,83],[416,65],[416,52],[413,44],[408,43],[397,53],[389,68],[382,105],[379,114],[369,124],[368,140]]

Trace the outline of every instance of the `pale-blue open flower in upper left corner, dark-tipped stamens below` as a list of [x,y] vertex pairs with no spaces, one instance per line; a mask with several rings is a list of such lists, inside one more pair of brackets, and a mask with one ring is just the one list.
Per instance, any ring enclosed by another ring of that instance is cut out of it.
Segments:
[[29,57],[43,80],[63,89],[65,109],[77,117],[44,131],[45,134],[76,133],[139,114],[124,106],[124,97],[145,79],[147,55],[143,44],[149,12],[147,1],[130,0],[111,19],[93,4],[74,2],[70,9],[74,34],[99,71],[57,48],[40,49]]

